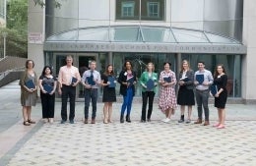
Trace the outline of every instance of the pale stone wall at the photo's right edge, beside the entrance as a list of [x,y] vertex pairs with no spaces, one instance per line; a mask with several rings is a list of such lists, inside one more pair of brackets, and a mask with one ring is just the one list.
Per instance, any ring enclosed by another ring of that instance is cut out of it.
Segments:
[[242,97],[246,102],[256,102],[256,1],[244,1],[243,43],[247,45],[247,55],[242,64]]

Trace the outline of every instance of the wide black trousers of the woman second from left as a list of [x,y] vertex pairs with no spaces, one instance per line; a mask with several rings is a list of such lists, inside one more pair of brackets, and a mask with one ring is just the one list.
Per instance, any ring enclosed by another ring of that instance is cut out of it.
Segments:
[[42,118],[54,118],[55,93],[52,95],[40,91]]

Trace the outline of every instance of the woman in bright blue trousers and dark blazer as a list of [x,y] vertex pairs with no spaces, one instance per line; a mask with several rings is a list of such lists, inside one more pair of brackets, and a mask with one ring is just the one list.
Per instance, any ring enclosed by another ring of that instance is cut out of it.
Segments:
[[132,70],[131,61],[124,63],[123,71],[120,72],[118,83],[120,83],[120,94],[123,95],[123,104],[121,107],[120,123],[124,123],[124,112],[126,110],[126,122],[131,123],[130,113],[132,108],[133,96],[135,95],[135,86],[137,83],[136,73]]

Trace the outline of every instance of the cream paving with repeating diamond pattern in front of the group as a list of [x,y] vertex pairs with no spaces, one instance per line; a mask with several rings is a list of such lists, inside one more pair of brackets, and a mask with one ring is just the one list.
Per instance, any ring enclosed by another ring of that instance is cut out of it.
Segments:
[[[256,122],[228,128],[168,124],[76,122],[44,124],[8,165],[256,165]],[[240,129],[243,130],[240,130]]]

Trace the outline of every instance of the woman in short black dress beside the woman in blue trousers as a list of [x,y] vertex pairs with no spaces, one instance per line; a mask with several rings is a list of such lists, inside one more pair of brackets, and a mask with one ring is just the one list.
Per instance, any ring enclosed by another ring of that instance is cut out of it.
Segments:
[[104,74],[101,76],[101,85],[103,86],[102,102],[104,103],[104,124],[112,122],[112,103],[116,101],[115,83],[116,81],[113,73],[113,66],[108,65]]

